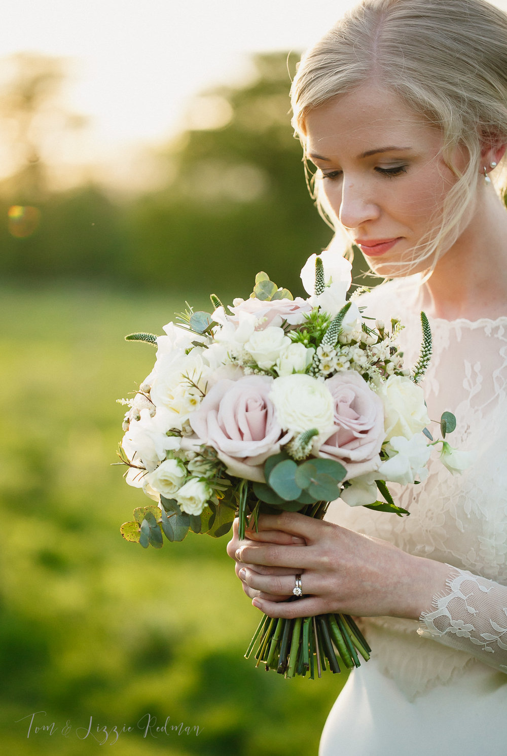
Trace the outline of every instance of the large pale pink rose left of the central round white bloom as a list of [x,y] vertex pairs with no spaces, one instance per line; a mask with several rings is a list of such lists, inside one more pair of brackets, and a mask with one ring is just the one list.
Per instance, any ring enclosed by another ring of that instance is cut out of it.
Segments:
[[219,380],[190,415],[199,441],[217,451],[229,475],[264,482],[267,457],[292,437],[283,435],[277,421],[269,399],[272,384],[270,376]]

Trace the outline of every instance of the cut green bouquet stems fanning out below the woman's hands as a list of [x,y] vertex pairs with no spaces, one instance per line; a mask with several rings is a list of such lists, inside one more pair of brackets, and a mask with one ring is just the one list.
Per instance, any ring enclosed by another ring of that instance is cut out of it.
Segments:
[[[319,502],[303,513],[322,519],[326,508],[326,502]],[[295,596],[289,599],[297,600]],[[264,664],[266,670],[274,669],[285,677],[306,677],[309,674],[314,680],[316,669],[317,677],[322,677],[326,669],[333,674],[339,673],[339,660],[345,669],[359,667],[359,657],[367,662],[371,650],[349,615],[326,614],[295,619],[263,615],[245,657],[249,658],[255,651],[256,666]]]

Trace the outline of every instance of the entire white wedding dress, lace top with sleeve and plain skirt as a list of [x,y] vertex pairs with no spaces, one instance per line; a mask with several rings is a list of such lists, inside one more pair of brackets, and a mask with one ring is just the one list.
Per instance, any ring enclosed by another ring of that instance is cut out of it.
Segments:
[[[405,324],[399,341],[412,367],[421,342],[413,281],[392,281],[359,303],[386,324]],[[445,562],[447,584],[419,622],[360,621],[372,658],[335,702],[320,756],[507,754],[507,315],[438,319],[431,330],[428,414],[456,415],[447,440],[473,453],[471,466],[453,476],[436,458],[424,483],[389,485],[410,516],[339,500],[327,519]],[[430,430],[441,437],[436,424]]]

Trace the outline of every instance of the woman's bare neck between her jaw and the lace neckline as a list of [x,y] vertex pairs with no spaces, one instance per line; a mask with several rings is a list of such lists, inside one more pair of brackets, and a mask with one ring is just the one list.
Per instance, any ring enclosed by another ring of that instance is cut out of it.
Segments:
[[434,318],[498,318],[507,314],[507,212],[484,187],[470,221],[422,286]]

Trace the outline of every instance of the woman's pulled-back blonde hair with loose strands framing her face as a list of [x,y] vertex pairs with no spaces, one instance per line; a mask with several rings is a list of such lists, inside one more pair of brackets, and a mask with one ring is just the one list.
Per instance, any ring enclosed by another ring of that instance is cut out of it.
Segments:
[[[291,100],[304,151],[308,112],[367,81],[394,91],[443,134],[442,155],[456,184],[437,227],[409,261],[414,267],[428,260],[431,268],[435,253],[459,236],[481,147],[507,142],[507,15],[484,0],[362,0],[301,58]],[[458,145],[469,156],[462,172],[451,158]],[[496,172],[504,166],[502,160]],[[317,189],[314,196],[329,222]]]

